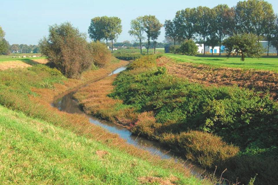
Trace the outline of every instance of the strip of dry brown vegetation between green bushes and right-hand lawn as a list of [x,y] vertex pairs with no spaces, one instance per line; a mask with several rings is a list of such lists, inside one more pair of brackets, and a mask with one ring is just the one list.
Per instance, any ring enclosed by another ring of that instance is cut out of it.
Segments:
[[187,78],[193,83],[205,85],[227,85],[254,89],[258,92],[270,93],[270,98],[278,100],[278,74],[272,71],[246,70],[228,67],[211,67],[192,63],[175,63],[173,59],[161,57],[159,66],[165,66],[169,74]]

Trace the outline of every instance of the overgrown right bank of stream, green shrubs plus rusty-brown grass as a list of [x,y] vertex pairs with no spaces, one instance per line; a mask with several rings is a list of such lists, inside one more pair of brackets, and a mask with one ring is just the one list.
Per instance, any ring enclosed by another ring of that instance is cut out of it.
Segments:
[[75,95],[87,113],[127,125],[202,166],[216,165],[218,173],[228,168],[223,175],[230,180],[247,184],[258,173],[255,184],[277,182],[277,105],[267,96],[189,83],[157,67],[153,56],[119,74],[114,90],[112,81]]

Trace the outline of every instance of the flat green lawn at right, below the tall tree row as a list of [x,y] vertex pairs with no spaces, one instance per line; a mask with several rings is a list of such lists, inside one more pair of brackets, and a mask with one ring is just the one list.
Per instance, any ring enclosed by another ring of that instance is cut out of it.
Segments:
[[175,59],[177,62],[189,62],[197,64],[206,64],[216,67],[233,67],[242,69],[257,69],[269,70],[278,72],[278,58],[263,57],[263,58],[246,58],[244,62],[240,61],[240,56],[230,57],[226,56],[186,56],[178,54],[164,54],[170,58]]

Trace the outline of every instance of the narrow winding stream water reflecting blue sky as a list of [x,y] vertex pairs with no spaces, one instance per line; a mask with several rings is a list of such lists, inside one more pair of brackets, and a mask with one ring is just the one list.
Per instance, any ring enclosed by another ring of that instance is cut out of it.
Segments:
[[[112,74],[117,74],[123,70],[125,70],[126,67],[120,67],[113,71]],[[77,89],[78,90],[78,89]],[[65,111],[67,113],[80,113],[85,114],[79,107],[78,102],[74,100],[73,94],[76,93],[77,90],[74,90],[72,92],[69,92],[68,94],[64,95],[61,98],[57,98],[53,103],[52,106],[58,108],[60,111]],[[166,147],[162,146],[159,142],[151,141],[146,138],[133,135],[131,131],[126,129],[125,127],[122,127],[120,125],[116,125],[113,122],[101,120],[99,118],[96,118],[94,116],[90,116],[85,114],[89,121],[92,124],[98,125],[100,127],[103,127],[107,129],[111,133],[116,133],[121,137],[122,139],[125,139],[127,143],[132,144],[136,146],[137,148],[144,149],[149,151],[152,154],[159,155],[162,159],[175,159],[176,161],[182,162],[185,167],[188,167],[191,169],[191,172],[194,175],[200,175],[204,172],[204,169],[195,166],[190,161],[183,161],[180,159],[180,157],[177,157],[169,151]]]

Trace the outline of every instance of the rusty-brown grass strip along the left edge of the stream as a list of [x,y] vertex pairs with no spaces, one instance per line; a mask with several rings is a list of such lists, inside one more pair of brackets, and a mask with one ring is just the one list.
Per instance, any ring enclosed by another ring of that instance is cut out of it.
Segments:
[[[56,97],[68,93],[70,89],[73,90],[88,81],[103,78],[103,76],[110,73],[113,69],[116,69],[122,65],[126,65],[127,63],[127,61],[121,61],[120,63],[110,65],[106,69],[88,71],[82,76],[81,80],[70,79],[64,85],[55,85],[54,89],[33,89],[41,96],[30,96],[30,102],[28,102],[28,104],[26,102],[23,102],[23,100],[16,100],[16,97],[11,98],[12,101],[17,101],[17,105],[21,104],[21,109],[29,113],[30,116],[35,116],[36,118],[55,123],[57,126],[69,129],[77,135],[85,135],[87,138],[98,140],[99,142],[102,142],[112,148],[119,149],[121,151],[129,153],[130,155],[147,160],[155,166],[157,165],[165,169],[171,169],[171,171],[173,172],[179,172],[184,174],[186,177],[189,177],[191,175],[190,169],[184,168],[183,164],[176,163],[174,160],[162,160],[159,156],[152,155],[148,151],[144,151],[142,149],[136,148],[133,145],[127,144],[126,141],[119,138],[118,135],[109,133],[102,127],[91,124],[88,118],[84,115],[61,112],[50,105],[50,103]],[[109,78],[113,79],[114,76],[111,76]],[[109,83],[111,83],[111,79]],[[30,106],[30,103],[32,104],[32,106]],[[211,182],[207,179],[204,179],[203,183],[211,184]]]

